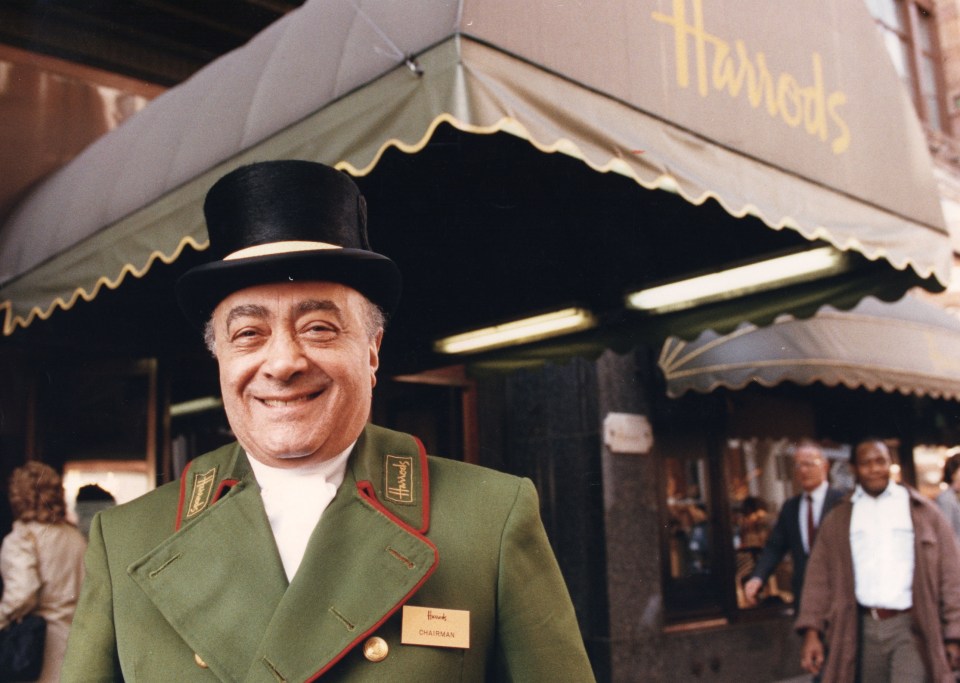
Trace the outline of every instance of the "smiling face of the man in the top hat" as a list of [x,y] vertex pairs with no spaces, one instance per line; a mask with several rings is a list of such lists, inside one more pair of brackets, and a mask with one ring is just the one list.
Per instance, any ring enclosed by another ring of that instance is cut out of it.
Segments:
[[343,452],[370,413],[383,330],[371,304],[330,282],[234,292],[213,312],[214,352],[230,426],[247,453],[274,467]]

